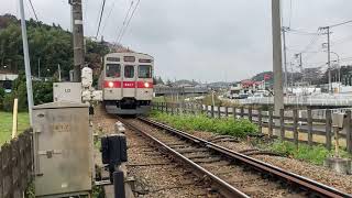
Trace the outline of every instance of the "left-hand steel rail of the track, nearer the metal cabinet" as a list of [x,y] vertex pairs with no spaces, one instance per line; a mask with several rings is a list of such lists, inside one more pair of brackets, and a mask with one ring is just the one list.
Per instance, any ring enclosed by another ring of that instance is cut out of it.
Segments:
[[227,182],[222,180],[218,176],[213,175],[212,173],[208,172],[204,167],[199,166],[198,164],[194,163],[193,161],[188,160],[187,157],[183,156],[180,153],[176,152],[172,147],[167,146],[160,140],[155,139],[154,136],[147,134],[146,132],[135,128],[134,125],[127,122],[124,119],[119,118],[119,120],[127,125],[129,129],[136,131],[141,133],[143,136],[147,138],[150,141],[155,143],[157,146],[162,147],[163,150],[166,150],[166,154],[172,154],[175,160],[182,161],[186,166],[190,166],[193,170],[196,170],[195,173],[200,178],[209,178],[211,180],[212,187],[218,190],[222,196],[224,197],[239,197],[239,198],[249,198],[248,195],[243,194],[239,189],[234,188]]

